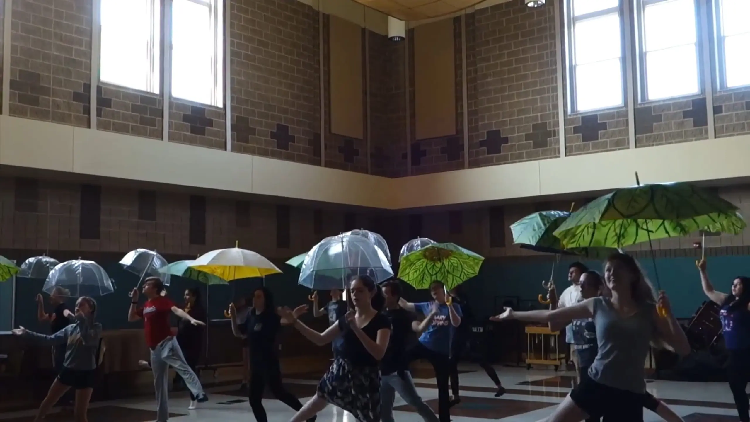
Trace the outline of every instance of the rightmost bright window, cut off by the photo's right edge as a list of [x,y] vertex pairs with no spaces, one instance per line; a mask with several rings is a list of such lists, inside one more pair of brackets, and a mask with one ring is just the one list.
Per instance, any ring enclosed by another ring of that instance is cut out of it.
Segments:
[[750,85],[750,1],[718,0],[722,88]]

